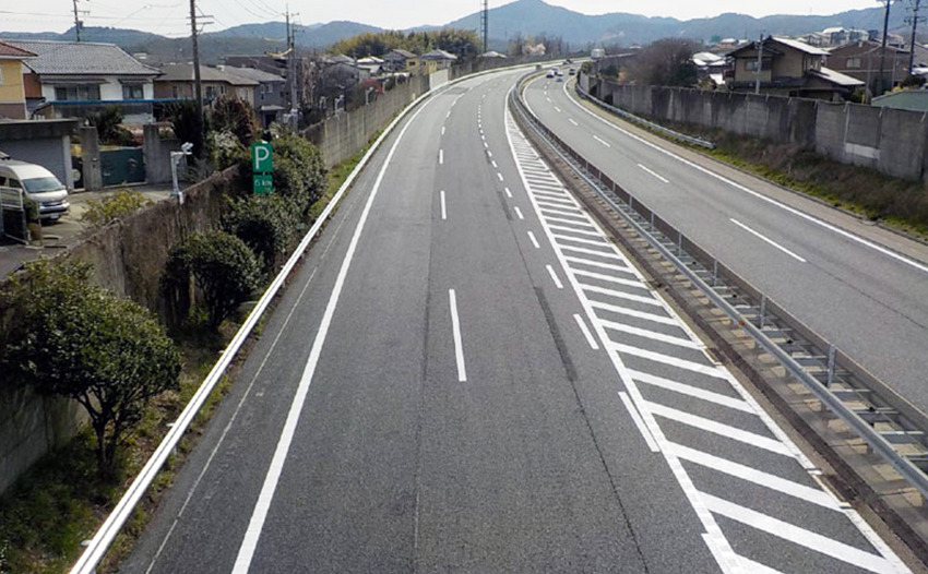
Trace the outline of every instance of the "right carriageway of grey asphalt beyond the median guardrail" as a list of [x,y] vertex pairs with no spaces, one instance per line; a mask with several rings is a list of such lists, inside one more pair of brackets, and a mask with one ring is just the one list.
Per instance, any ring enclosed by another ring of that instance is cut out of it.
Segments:
[[[901,261],[895,251],[862,244],[858,237],[872,236],[873,229],[853,217],[824,213],[819,204],[711,160],[693,162],[692,153],[639,135],[628,124],[615,129],[581,107],[567,84],[542,79],[530,85],[526,98],[568,144],[636,199],[928,409],[924,261]],[[770,198],[787,203],[787,208]],[[794,205],[850,235],[805,218],[792,211]],[[889,234],[879,234],[875,241],[914,256],[925,254],[923,246]]]

